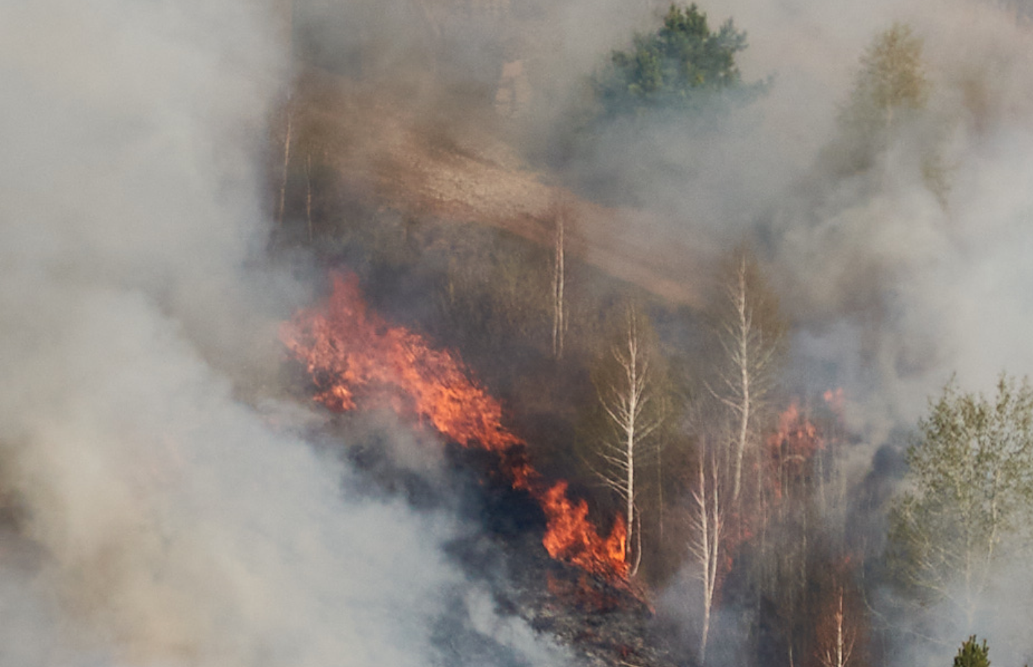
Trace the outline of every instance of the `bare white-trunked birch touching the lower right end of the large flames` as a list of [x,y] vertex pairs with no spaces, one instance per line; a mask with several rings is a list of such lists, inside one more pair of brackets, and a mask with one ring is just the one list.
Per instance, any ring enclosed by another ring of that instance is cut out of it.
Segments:
[[636,542],[640,529],[636,482],[648,443],[663,424],[666,406],[643,330],[648,324],[633,307],[625,315],[621,338],[606,359],[607,372],[597,382],[607,428],[598,443],[596,454],[601,466],[595,472],[624,501],[628,530],[625,555],[634,574],[641,560],[641,549],[635,547],[640,543]]

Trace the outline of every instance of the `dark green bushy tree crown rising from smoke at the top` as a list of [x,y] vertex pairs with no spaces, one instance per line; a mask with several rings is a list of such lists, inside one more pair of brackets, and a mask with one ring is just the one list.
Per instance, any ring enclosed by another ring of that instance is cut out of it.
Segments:
[[716,32],[695,4],[671,4],[654,34],[636,34],[632,50],[614,52],[596,80],[607,115],[648,108],[698,109],[714,93],[743,86],[735,54],[746,33],[729,19]]

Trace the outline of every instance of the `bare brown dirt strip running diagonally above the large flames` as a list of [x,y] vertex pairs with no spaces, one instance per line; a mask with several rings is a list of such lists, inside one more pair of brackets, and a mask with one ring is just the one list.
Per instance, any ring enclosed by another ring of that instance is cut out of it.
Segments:
[[348,189],[375,205],[488,224],[543,245],[562,212],[568,252],[671,303],[700,305],[698,254],[643,233],[662,221],[544,184],[490,132],[441,131],[407,100],[321,70],[300,77],[292,108],[294,135],[307,135]]

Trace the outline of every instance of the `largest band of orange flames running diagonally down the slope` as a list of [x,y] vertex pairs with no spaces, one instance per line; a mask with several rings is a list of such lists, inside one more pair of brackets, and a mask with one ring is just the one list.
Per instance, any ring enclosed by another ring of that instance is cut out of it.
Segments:
[[523,455],[524,441],[502,423],[502,406],[462,360],[419,336],[389,325],[363,300],[355,276],[332,276],[321,308],[300,311],[281,327],[287,349],[308,368],[314,399],[336,411],[385,403],[430,422],[464,447],[502,454],[512,487],[529,493],[545,514],[549,554],[611,580],[627,577],[627,529],[617,517],[605,539],[588,519],[588,504],[567,498],[567,482],[550,485]]

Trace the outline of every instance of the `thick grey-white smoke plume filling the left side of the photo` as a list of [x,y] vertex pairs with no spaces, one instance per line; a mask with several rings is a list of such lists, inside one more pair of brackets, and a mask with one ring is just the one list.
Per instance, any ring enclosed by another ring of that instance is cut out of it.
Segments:
[[303,291],[261,267],[273,9],[0,4],[0,663],[436,664],[442,618],[561,662],[447,562],[456,519],[241,398]]

